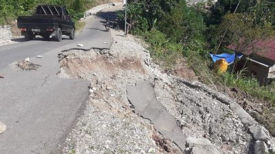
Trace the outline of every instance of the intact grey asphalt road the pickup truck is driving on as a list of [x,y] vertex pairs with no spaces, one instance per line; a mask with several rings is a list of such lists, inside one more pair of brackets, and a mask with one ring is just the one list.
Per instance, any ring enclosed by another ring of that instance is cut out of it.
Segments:
[[[109,49],[113,39],[104,31],[104,15],[91,18],[76,40],[64,36],[62,42],[36,39],[0,47],[0,74],[5,77],[0,79],[0,121],[7,125],[0,135],[1,154],[58,153],[62,149],[85,108],[89,82],[57,77],[57,55],[79,48],[77,44],[84,44],[85,50]],[[40,67],[20,70],[15,64],[26,57]]]

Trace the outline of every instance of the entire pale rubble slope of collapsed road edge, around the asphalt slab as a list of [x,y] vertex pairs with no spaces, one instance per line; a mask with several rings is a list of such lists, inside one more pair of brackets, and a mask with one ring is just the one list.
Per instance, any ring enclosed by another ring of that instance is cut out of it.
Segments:
[[[204,86],[161,73],[133,36],[111,31],[111,50],[67,51],[60,77],[91,81],[87,110],[67,138],[64,153],[264,153],[274,138],[234,100]],[[180,124],[185,151],[158,133],[128,102],[126,86],[146,80]],[[241,114],[240,114],[241,113]]]

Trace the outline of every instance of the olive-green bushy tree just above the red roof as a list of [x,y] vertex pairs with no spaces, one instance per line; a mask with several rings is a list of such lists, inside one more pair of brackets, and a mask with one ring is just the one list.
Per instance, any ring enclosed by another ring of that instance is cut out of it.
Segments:
[[219,25],[218,35],[222,36],[225,29],[228,29],[223,39],[223,46],[235,44],[239,51],[252,48],[257,41],[274,37],[274,27],[270,23],[258,25],[254,23],[253,16],[249,14],[227,14]]

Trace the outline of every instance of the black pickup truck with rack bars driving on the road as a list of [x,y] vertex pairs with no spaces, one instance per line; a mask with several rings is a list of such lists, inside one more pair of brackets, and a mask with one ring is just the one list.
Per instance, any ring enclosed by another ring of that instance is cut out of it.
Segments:
[[74,40],[75,25],[65,8],[58,5],[38,5],[32,16],[19,16],[17,26],[25,40],[35,36],[49,39],[50,36],[61,42],[62,35]]

